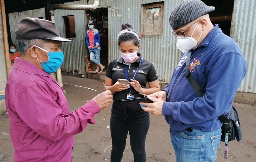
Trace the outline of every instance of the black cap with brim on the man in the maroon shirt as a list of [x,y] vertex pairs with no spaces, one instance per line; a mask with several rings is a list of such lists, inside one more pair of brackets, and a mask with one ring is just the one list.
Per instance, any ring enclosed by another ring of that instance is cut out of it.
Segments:
[[50,39],[61,42],[73,42],[72,40],[62,38],[56,24],[52,21],[38,18],[26,17],[18,23],[18,28],[15,30],[17,40],[30,39]]

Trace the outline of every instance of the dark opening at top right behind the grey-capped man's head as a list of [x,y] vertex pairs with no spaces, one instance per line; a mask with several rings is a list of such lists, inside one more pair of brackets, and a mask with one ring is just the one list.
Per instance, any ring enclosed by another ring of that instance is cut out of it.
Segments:
[[210,12],[210,20],[219,24],[222,32],[230,36],[234,0],[202,0],[208,6],[214,6],[215,10]]

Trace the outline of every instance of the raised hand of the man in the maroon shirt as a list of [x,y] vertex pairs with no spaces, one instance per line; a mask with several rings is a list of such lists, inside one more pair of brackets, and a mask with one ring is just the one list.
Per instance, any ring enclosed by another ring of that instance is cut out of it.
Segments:
[[94,100],[100,107],[100,110],[106,109],[113,100],[113,95],[110,90],[106,90],[97,96],[95,96],[92,100]]

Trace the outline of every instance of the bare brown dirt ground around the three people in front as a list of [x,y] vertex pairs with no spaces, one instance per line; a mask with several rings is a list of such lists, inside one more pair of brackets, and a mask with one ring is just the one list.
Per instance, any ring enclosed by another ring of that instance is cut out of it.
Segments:
[[[82,106],[100,92],[103,82],[93,79],[63,76],[63,89],[71,111]],[[67,84],[66,84],[67,83]],[[84,87],[97,90],[92,91]],[[243,131],[241,141],[228,143],[228,159],[224,159],[224,143],[218,150],[216,162],[255,162],[256,161],[256,107],[253,105],[236,104]],[[85,131],[75,135],[72,162],[110,162],[111,135],[109,119],[111,107],[95,115],[95,125],[88,124]],[[146,139],[148,162],[175,162],[174,149],[171,146],[169,126],[163,115],[150,115],[150,129]],[[8,114],[0,116],[0,162],[13,162],[14,148],[11,143]],[[1,159],[1,157],[4,158]],[[122,162],[132,162],[133,155],[130,139],[126,141],[126,149]],[[189,160],[188,160],[189,162]]]

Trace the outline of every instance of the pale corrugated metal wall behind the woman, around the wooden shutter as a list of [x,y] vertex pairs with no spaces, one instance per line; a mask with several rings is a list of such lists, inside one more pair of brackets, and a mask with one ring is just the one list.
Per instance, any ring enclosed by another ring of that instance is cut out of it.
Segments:
[[[176,39],[171,34],[169,15],[182,0],[100,0],[99,8],[108,7],[108,61],[119,57],[116,37],[121,24],[130,23],[141,33],[141,6],[153,2],[164,2],[163,34],[141,38],[140,53],[155,66],[161,82],[168,83],[180,55],[176,48]],[[87,0],[67,4],[87,4]],[[93,0],[90,0],[93,4]],[[57,15],[57,14],[56,14]],[[119,15],[119,16],[118,16]]]

